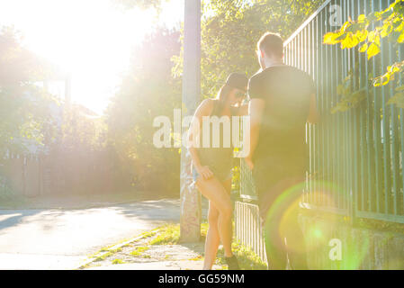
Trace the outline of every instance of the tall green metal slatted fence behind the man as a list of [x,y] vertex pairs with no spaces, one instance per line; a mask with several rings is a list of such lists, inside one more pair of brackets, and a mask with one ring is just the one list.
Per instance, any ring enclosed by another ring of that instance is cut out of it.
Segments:
[[[339,28],[348,17],[388,7],[389,0],[328,0],[285,41],[285,61],[310,73],[317,84],[321,120],[307,124],[309,170],[303,204],[355,218],[404,223],[404,113],[387,104],[394,85],[373,87],[371,78],[387,65],[402,60],[382,41],[381,55],[368,61],[357,49],[322,44],[323,35]],[[346,112],[332,113],[341,100],[337,86],[347,76],[352,93],[364,100]],[[241,161],[241,194],[254,198],[254,184]]]

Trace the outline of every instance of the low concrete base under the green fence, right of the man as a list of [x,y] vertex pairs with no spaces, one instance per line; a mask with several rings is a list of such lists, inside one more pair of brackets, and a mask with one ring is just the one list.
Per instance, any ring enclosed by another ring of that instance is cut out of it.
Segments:
[[304,214],[300,220],[311,269],[404,269],[403,234]]

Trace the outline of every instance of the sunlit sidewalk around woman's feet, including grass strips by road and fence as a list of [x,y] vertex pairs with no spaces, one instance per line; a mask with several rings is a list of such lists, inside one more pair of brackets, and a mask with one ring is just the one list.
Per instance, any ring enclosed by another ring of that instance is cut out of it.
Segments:
[[[121,244],[105,247],[82,264],[79,269],[90,270],[202,270],[204,238],[208,229],[202,223],[202,238],[197,243],[179,243],[178,224],[148,231]],[[266,270],[263,263],[250,249],[237,242],[232,244],[241,270]],[[213,270],[226,270],[222,247]]]

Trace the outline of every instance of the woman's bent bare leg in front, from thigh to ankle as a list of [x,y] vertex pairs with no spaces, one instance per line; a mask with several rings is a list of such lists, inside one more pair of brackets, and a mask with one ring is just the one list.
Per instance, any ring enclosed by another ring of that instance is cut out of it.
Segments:
[[223,187],[223,184],[216,177],[209,180],[202,179],[200,176],[196,185],[198,190],[217,208],[219,211],[218,227],[221,243],[224,247],[225,257],[232,257],[231,253],[231,240],[232,229],[231,219],[233,215],[233,208],[231,205],[230,195]]

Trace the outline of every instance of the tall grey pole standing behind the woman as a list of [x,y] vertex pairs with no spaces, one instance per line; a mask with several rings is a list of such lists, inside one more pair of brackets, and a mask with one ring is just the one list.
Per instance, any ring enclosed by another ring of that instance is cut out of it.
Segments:
[[[201,0],[185,0],[182,116],[192,115],[201,100]],[[187,128],[183,128],[183,134]],[[193,186],[191,157],[181,149],[181,241],[201,237],[201,193]]]

